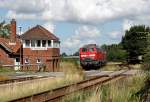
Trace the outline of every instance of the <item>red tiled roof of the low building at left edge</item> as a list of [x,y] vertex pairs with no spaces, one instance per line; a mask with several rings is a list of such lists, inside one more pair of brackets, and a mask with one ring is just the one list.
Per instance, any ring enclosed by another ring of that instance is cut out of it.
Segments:
[[21,42],[19,39],[16,39],[16,42],[12,43],[10,39],[0,37],[0,45],[10,53],[18,53],[21,47]]

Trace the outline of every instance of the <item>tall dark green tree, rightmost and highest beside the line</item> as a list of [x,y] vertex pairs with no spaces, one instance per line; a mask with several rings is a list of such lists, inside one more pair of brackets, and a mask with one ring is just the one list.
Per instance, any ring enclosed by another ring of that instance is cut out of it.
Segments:
[[135,63],[139,61],[139,56],[144,55],[144,50],[147,47],[147,33],[144,32],[148,31],[150,31],[150,28],[144,25],[133,26],[125,31],[125,36],[122,37],[122,45],[128,52],[129,62]]

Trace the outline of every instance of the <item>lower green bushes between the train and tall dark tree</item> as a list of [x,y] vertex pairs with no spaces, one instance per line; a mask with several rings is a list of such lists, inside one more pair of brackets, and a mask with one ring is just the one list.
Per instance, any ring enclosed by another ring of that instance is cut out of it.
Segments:
[[127,53],[122,49],[121,44],[102,45],[101,48],[107,53],[108,61],[124,61]]

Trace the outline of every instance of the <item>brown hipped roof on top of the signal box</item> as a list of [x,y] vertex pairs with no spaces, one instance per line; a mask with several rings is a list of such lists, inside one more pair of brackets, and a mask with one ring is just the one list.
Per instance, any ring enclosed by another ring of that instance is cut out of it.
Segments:
[[21,35],[21,39],[23,40],[54,40],[59,41],[59,38],[54,34],[46,30],[44,27],[37,25],[28,31],[26,31],[23,35]]

